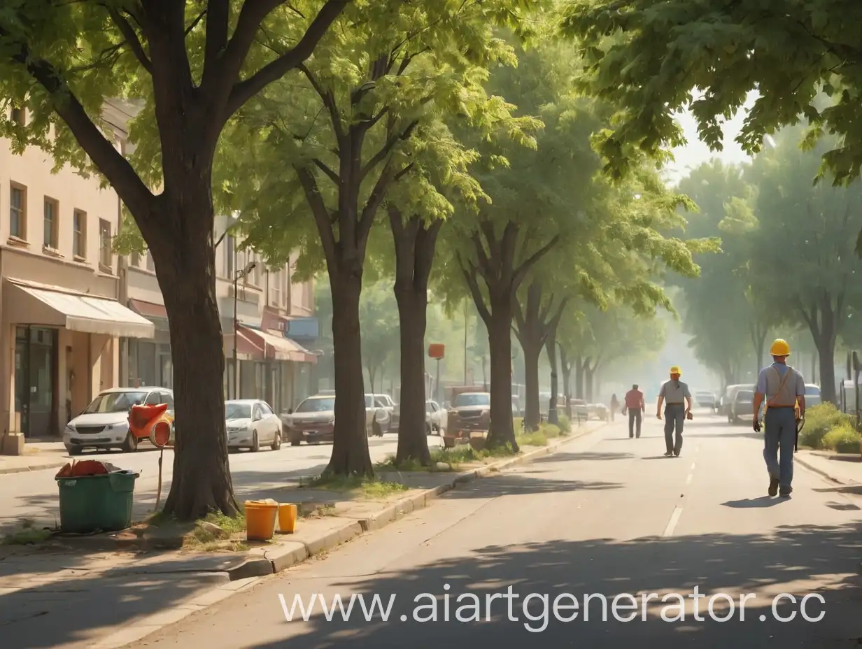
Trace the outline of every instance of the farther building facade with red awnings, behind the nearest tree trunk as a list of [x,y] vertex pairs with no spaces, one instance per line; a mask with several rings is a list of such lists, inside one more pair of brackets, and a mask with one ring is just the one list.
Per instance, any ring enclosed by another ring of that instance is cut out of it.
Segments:
[[[277,413],[285,412],[312,390],[317,355],[307,346],[313,350],[318,336],[314,284],[290,281],[295,258],[284,267],[266,268],[255,253],[240,251],[234,236],[226,234],[230,222],[216,218],[214,234],[224,395],[265,399]],[[170,388],[171,337],[153,259],[131,255],[126,278],[128,306],[153,323],[153,337],[122,340],[122,385]]]

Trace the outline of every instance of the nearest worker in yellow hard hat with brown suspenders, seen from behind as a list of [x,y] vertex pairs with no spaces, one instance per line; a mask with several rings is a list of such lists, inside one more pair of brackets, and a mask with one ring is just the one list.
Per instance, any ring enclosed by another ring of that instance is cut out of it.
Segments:
[[753,427],[755,432],[760,432],[760,407],[765,400],[763,458],[769,472],[768,493],[770,496],[780,494],[788,497],[793,491],[796,417],[802,419],[805,416],[805,379],[799,371],[787,365],[790,345],[786,340],[775,340],[769,353],[772,365],[760,370],[754,389]]

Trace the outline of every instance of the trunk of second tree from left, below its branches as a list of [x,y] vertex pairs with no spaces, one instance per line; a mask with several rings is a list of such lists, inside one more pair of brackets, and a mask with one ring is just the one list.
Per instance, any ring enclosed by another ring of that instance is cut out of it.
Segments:
[[362,377],[362,334],[359,296],[362,275],[329,270],[332,289],[332,341],[335,363],[335,430],[332,456],[324,473],[374,475],[365,432],[365,381]]

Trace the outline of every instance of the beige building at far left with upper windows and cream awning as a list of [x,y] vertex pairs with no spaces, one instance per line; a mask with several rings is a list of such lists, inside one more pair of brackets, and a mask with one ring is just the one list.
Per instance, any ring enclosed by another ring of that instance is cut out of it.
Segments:
[[[28,119],[26,110],[12,117]],[[19,156],[0,139],[3,432],[29,438],[61,434],[116,385],[119,337],[153,336],[153,323],[118,300],[116,193],[52,168],[47,153]]]

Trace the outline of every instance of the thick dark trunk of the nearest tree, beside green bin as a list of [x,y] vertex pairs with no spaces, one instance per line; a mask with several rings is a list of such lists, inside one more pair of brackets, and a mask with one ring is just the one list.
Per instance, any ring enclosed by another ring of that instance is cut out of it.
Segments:
[[212,201],[206,181],[198,186],[194,195],[177,197],[176,213],[169,215],[171,222],[185,222],[186,227],[173,235],[155,233],[148,240],[171,340],[182,341],[172,346],[177,434],[165,512],[184,521],[212,511],[227,515],[238,511],[225,431],[224,344],[209,229]]

